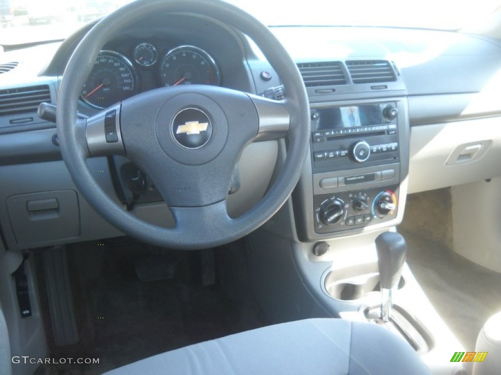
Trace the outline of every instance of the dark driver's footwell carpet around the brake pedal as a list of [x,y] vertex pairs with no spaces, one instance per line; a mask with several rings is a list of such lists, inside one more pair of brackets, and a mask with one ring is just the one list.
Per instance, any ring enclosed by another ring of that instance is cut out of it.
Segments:
[[235,303],[217,283],[202,286],[199,252],[168,252],[177,262],[176,277],[140,281],[134,264],[162,252],[134,241],[69,246],[80,341],[51,345],[51,357],[99,358],[99,364],[44,365],[37,374],[97,375],[167,350],[268,324],[254,301]]

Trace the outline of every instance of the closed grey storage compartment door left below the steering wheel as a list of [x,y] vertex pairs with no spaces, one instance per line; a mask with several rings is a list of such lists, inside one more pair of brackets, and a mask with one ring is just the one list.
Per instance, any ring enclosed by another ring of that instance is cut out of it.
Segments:
[[73,190],[12,195],[7,198],[7,212],[20,245],[80,235],[78,197]]

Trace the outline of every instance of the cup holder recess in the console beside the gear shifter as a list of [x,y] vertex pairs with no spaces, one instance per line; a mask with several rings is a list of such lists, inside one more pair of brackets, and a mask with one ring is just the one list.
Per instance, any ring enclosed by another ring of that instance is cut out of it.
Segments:
[[[370,266],[362,268],[367,267]],[[361,271],[367,272],[361,273]],[[398,288],[401,289],[404,286],[405,279],[400,276]],[[361,299],[372,291],[380,291],[379,272],[371,272],[370,269],[361,269],[360,267],[331,270],[325,277],[325,289],[331,297],[336,299]]]

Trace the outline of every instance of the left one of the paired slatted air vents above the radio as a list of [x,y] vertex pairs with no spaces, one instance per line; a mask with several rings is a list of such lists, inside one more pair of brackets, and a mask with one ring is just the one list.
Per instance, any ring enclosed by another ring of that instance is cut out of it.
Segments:
[[346,77],[339,61],[302,62],[298,67],[306,87],[346,84]]

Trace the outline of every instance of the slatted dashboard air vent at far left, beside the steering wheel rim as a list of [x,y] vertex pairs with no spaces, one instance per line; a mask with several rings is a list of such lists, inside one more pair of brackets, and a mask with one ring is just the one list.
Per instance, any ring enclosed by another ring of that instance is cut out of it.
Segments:
[[0,90],[0,115],[36,112],[44,101],[51,101],[47,84]]

